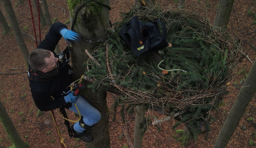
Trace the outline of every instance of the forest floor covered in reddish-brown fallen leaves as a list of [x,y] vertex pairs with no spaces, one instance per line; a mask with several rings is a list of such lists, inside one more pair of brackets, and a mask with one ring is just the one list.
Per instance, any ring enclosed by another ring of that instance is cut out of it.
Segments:
[[[27,32],[27,34],[34,36],[33,26],[31,21],[30,9],[27,1],[24,1],[24,4],[20,4],[18,0],[11,0],[13,9],[15,11],[20,29]],[[112,22],[120,20],[119,12],[127,12],[129,8],[133,5],[134,0],[110,0],[110,19]],[[47,0],[49,4],[48,8],[51,13],[52,20],[57,18],[57,21],[65,23],[69,19],[69,11],[67,0]],[[174,3],[173,0],[159,0],[160,6],[165,7],[166,9],[172,10],[172,8],[177,7],[177,3]],[[216,6],[218,1],[209,1],[209,5],[205,4],[205,1],[201,0],[187,0],[185,3],[187,10],[197,12],[207,17],[211,24],[214,22],[216,14]],[[32,4],[33,6],[33,4]],[[0,1],[0,9],[6,16],[3,2]],[[230,34],[237,34],[242,39],[241,45],[244,53],[254,61],[255,60],[255,50],[252,46],[256,47],[256,27],[252,25],[252,22],[255,19],[252,16],[247,16],[247,13],[251,11],[255,13],[255,0],[242,1],[238,0],[234,2],[233,10],[229,20],[228,31]],[[35,24],[37,23],[37,13],[34,11],[33,14],[35,19]],[[70,24],[68,24],[68,27]],[[28,30],[26,31],[26,27]],[[36,30],[38,30],[36,28]],[[47,33],[48,27],[45,26],[41,31],[42,39]],[[15,35],[11,30],[7,34],[3,34],[4,30],[0,27],[0,101],[6,108],[9,116],[11,117],[18,133],[22,139],[29,143],[32,148],[55,148],[60,147],[59,138],[56,132],[55,125],[52,120],[50,112],[44,112],[42,116],[36,118],[38,109],[33,103],[31,97],[29,82],[27,79],[27,68],[23,59],[23,55],[19,49],[19,46],[16,42]],[[37,32],[38,34],[38,32]],[[29,51],[32,51],[36,48],[35,41],[28,36],[24,36],[27,48]],[[39,37],[38,37],[39,39]],[[61,49],[66,47],[67,43],[61,39],[59,46]],[[250,46],[251,45],[251,46]],[[176,137],[181,137],[177,135],[172,130],[172,125],[176,122],[174,119],[167,122],[163,122],[159,125],[160,131],[154,125],[149,125],[148,129],[143,136],[143,148],[169,148],[169,147],[186,147],[186,148],[211,148],[213,147],[215,140],[219,134],[219,131],[222,128],[222,125],[237,98],[240,88],[234,86],[235,82],[239,82],[240,79],[245,77],[245,74],[248,74],[252,64],[247,59],[243,58],[239,65],[235,68],[237,72],[230,85],[228,85],[228,94],[224,96],[223,101],[225,102],[224,106],[219,107],[217,110],[211,111],[211,116],[214,117],[214,120],[211,121],[211,131],[207,134],[199,135],[198,140],[191,140],[187,146],[182,146],[180,142],[176,141]],[[238,83],[238,86],[241,85]],[[113,109],[111,104],[113,103],[115,96],[111,93],[108,93],[108,105],[110,112],[112,113]],[[120,108],[118,108],[117,113]],[[56,111],[55,111],[56,113]],[[56,114],[57,115],[57,114]],[[158,119],[164,118],[165,115],[160,113],[147,110],[147,116],[157,116]],[[124,131],[128,132],[128,135],[133,141],[133,127],[134,127],[134,115],[127,116],[126,123],[124,124],[121,117],[117,114],[117,119],[115,122],[112,121],[113,114],[110,114],[109,118],[109,130],[110,130],[110,140],[112,148],[121,148],[123,146],[128,146],[127,138],[124,136]],[[247,121],[247,118],[254,118],[253,121]],[[238,127],[234,131],[232,137],[229,140],[227,148],[242,148],[250,147],[248,145],[250,138],[252,138],[252,133],[256,130],[255,126],[255,117],[256,117],[256,99],[252,99],[251,103],[246,108],[246,111],[241,118]],[[65,125],[63,124],[63,119],[59,116],[56,116],[58,127],[61,131],[61,136],[64,139],[64,143],[67,147],[78,148],[85,147],[84,143],[74,138],[68,136]],[[45,121],[49,121],[48,125],[45,124]],[[177,129],[182,129],[183,125]],[[243,127],[243,128],[241,128]],[[5,133],[3,126],[0,124],[0,148],[7,148],[12,146],[11,141],[8,138],[8,135]],[[256,143],[256,139],[254,139]],[[251,146],[255,147],[255,146]]]

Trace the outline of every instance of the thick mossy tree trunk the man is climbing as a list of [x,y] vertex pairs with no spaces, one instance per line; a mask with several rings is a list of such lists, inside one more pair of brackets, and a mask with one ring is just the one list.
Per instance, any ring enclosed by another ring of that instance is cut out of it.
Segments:
[[[72,4],[71,4],[72,3]],[[99,39],[104,38],[108,35],[109,28],[109,15],[110,10],[106,6],[96,4],[95,2],[90,2],[87,6],[86,4],[79,11],[75,23],[73,24],[73,19],[75,18],[75,12],[82,3],[75,3],[71,1],[69,6],[75,5],[74,8],[70,9],[70,23],[73,25],[73,31],[79,33],[85,40],[87,39]],[[109,0],[104,0],[102,3],[105,5],[110,5]],[[94,9],[93,9],[94,7]],[[93,11],[96,10],[96,11]],[[98,10],[98,11],[97,11]],[[75,79],[80,78],[86,68],[83,63],[87,61],[88,56],[85,54],[85,49],[89,53],[92,53],[95,47],[98,47],[100,43],[96,40],[92,42],[86,42],[83,40],[78,44],[72,45],[72,68],[74,71]],[[86,80],[83,81],[85,85],[90,82]],[[79,92],[91,105],[97,108],[101,113],[101,120],[94,125],[94,127],[89,131],[94,136],[93,142],[86,143],[87,148],[110,148],[110,136],[109,136],[109,110],[106,104],[106,91],[96,90],[92,92],[91,89],[87,88]]]

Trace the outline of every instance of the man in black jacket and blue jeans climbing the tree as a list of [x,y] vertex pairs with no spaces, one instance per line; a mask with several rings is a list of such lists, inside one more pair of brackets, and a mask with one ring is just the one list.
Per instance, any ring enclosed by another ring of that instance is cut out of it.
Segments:
[[[69,135],[81,138],[85,142],[91,142],[94,137],[87,133],[87,130],[101,119],[101,115],[95,107],[77,94],[77,91],[70,92],[73,87],[76,90],[80,87],[72,83],[72,70],[67,60],[61,63],[59,56],[54,53],[61,36],[71,44],[81,41],[80,35],[68,30],[64,24],[54,23],[45,39],[29,55],[29,81],[32,97],[41,111],[65,107],[77,114],[81,113],[80,120],[73,124],[71,129],[67,125]],[[65,52],[69,52],[68,47]]]

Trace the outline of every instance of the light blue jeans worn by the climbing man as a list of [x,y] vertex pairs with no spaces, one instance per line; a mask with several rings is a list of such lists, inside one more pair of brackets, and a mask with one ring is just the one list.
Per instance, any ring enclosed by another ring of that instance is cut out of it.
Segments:
[[[85,124],[92,126],[101,119],[101,115],[98,109],[93,107],[89,102],[87,102],[81,95],[76,101],[76,106],[83,116],[83,121]],[[72,107],[69,107],[69,110],[78,114],[75,103],[72,103]],[[79,121],[74,124],[74,130],[82,133],[85,129],[79,125]]]

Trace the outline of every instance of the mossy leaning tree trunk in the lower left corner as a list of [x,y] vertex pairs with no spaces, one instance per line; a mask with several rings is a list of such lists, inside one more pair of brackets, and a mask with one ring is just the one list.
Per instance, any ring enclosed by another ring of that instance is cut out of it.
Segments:
[[13,146],[15,148],[26,148],[28,144],[26,144],[22,138],[20,138],[19,133],[17,132],[11,118],[9,117],[8,113],[6,112],[5,107],[3,106],[2,102],[0,101],[0,121],[3,125],[4,130],[8,134]]

